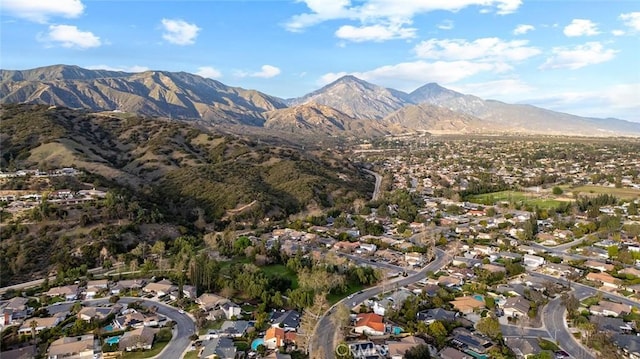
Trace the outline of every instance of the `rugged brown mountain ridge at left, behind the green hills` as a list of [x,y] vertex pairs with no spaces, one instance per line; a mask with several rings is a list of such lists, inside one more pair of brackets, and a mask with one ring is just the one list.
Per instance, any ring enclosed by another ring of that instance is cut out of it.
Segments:
[[260,113],[286,107],[276,97],[186,72],[125,73],[56,65],[0,70],[0,79],[3,104],[54,104],[250,125],[261,125]]

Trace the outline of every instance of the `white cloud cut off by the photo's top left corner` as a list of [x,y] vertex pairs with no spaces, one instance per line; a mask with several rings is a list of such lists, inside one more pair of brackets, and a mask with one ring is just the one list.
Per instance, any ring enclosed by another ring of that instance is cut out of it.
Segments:
[[82,15],[80,0],[3,0],[2,10],[12,16],[46,23],[52,17],[75,18]]

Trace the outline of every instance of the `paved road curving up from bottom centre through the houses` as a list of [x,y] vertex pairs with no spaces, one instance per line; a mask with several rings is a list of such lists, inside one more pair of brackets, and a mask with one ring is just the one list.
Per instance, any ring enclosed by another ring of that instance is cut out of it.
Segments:
[[[384,283],[384,287],[389,288],[390,285],[402,287],[411,283],[418,282],[426,278],[426,273],[428,271],[437,272],[449,262],[451,262],[451,256],[445,253],[443,250],[436,248],[434,260],[426,265],[420,272],[407,277],[396,278],[393,281],[387,281]],[[309,348],[309,358],[314,358],[312,356],[313,348],[318,347],[322,347],[324,349],[325,358],[335,358],[334,348],[336,347],[336,343],[334,343],[334,337],[338,332],[338,328],[334,324],[333,320],[331,320],[333,308],[341,303],[344,303],[349,308],[354,307],[357,304],[380,294],[382,292],[382,289],[382,284],[376,287],[369,288],[362,291],[361,293],[355,294],[352,298],[344,298],[338,303],[334,304],[331,308],[329,308],[329,310],[327,310],[324,316],[320,318],[318,324],[316,325],[315,333],[312,336],[313,344]]]

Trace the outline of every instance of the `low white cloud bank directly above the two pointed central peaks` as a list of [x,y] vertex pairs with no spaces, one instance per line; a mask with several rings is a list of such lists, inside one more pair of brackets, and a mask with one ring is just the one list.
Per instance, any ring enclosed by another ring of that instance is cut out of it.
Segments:
[[[503,72],[502,64],[476,63],[471,61],[413,61],[395,65],[386,65],[365,72],[350,73],[372,83],[412,91],[427,82],[448,84],[481,72]],[[346,72],[327,73],[319,79],[320,85],[326,85],[347,75]]]

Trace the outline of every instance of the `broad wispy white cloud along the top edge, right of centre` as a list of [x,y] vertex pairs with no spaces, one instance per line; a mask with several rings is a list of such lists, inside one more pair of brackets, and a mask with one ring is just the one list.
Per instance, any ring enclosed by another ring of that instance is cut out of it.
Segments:
[[[415,37],[415,29],[390,24],[410,24],[415,15],[436,11],[458,11],[469,6],[485,6],[505,15],[515,12],[521,0],[364,0],[352,4],[350,0],[301,0],[310,12],[294,15],[284,24],[289,31],[302,31],[307,27],[329,20],[352,20],[356,25],[344,25],[336,36],[353,41],[385,41]],[[448,24],[441,28],[449,28]],[[379,35],[379,36],[375,36]]]

